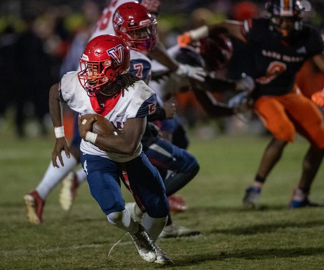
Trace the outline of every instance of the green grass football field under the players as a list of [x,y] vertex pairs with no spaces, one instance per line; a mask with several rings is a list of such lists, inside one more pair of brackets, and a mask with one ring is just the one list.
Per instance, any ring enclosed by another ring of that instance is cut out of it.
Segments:
[[[323,209],[287,208],[308,147],[297,137],[271,172],[262,207],[245,210],[244,189],[251,184],[269,137],[223,136],[199,139],[190,134],[189,152],[200,171],[182,195],[188,210],[174,215],[176,224],[199,229],[191,238],[161,239],[160,246],[177,270],[320,270],[324,269]],[[54,138],[15,139],[1,132],[0,269],[138,270],[159,269],[144,262],[127,235],[112,227],[86,184],[69,213],[59,206],[60,185],[47,198],[44,223],[27,223],[23,196],[34,189],[49,165]],[[324,167],[311,199],[324,202]],[[124,190],[125,199],[131,195]]]

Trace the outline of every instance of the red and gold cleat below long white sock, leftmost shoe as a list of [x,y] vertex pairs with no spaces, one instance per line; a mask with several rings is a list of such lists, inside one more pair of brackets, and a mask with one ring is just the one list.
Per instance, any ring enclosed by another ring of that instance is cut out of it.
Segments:
[[43,222],[43,208],[45,201],[39,196],[36,190],[32,190],[24,196],[26,215],[30,223],[40,224]]

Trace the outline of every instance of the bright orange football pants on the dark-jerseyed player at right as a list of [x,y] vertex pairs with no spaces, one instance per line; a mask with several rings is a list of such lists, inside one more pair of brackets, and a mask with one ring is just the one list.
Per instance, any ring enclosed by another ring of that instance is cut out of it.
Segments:
[[295,133],[313,146],[324,148],[324,120],[321,111],[297,87],[282,96],[262,96],[254,109],[265,127],[280,140],[292,142]]

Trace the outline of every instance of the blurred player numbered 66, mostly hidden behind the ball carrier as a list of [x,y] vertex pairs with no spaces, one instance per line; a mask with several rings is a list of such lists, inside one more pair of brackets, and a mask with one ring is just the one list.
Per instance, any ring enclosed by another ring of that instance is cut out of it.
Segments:
[[[114,34],[111,14],[114,13],[114,11],[119,5],[129,1],[133,1],[133,0],[112,0],[110,4],[102,12],[102,16],[97,23],[96,30],[94,31],[92,37],[98,36],[100,34]],[[159,0],[141,0],[139,2],[145,7],[147,7],[152,13],[156,15],[158,14],[158,9],[160,6]],[[160,49],[158,49],[158,51],[160,51]],[[160,56],[159,59],[161,58],[163,64],[165,66],[168,66],[170,70],[173,71],[177,70],[177,73],[180,76],[184,76],[184,74],[188,74],[191,77],[198,76],[199,80],[203,80],[203,75],[205,74],[201,73],[202,72],[201,69],[195,69],[195,68],[191,69],[191,67],[187,65],[178,65],[170,57],[165,57],[165,55],[163,54],[163,50],[161,54],[162,56]],[[155,55],[160,55],[160,53],[155,53]],[[172,108],[170,108],[170,105],[168,106],[169,107],[166,108],[168,109],[166,113],[170,115],[172,114]],[[56,168],[50,164],[42,180],[36,187],[36,189],[31,190],[24,196],[25,204],[27,207],[27,219],[29,222],[34,224],[40,224],[43,222],[42,215],[43,215],[46,198],[48,194],[51,192],[51,190],[55,187],[55,185],[57,185],[61,181],[63,181],[63,186],[60,192],[60,204],[62,208],[66,211],[71,208],[73,200],[76,195],[76,189],[78,188],[80,182],[84,178],[84,173],[82,172],[82,170],[77,171],[76,174],[72,171],[80,162],[80,154],[79,154],[80,141],[81,138],[78,135],[78,130],[75,129],[74,137],[71,142],[70,159],[67,159],[65,156],[62,157],[65,166]],[[30,208],[30,205],[33,205],[32,209]]]

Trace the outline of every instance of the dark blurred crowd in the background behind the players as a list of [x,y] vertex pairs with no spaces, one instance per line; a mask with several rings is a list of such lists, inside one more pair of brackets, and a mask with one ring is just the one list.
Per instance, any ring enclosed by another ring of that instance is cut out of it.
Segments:
[[[0,2],[0,130],[12,129],[19,138],[53,133],[48,115],[48,92],[61,76],[75,70],[71,46],[83,44],[109,0],[10,0]],[[306,21],[324,29],[324,1],[310,1]],[[224,19],[242,21],[264,16],[265,1],[163,0],[158,31],[165,46],[177,35]],[[201,136],[246,130],[238,119],[211,120],[190,93],[176,97],[178,113],[188,128],[200,127]],[[66,133],[72,115],[65,115]],[[253,123],[253,122],[251,122]],[[249,125],[251,125],[251,123]],[[256,124],[262,133],[262,125]],[[234,128],[233,128],[234,127]],[[249,126],[249,130],[253,127]]]

